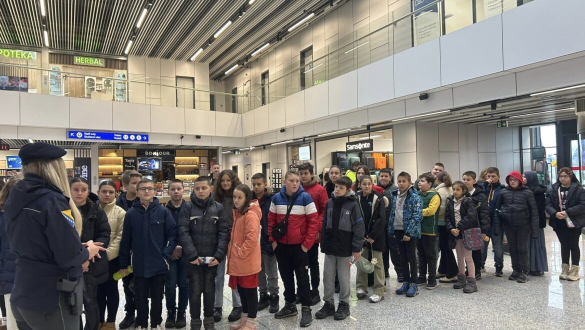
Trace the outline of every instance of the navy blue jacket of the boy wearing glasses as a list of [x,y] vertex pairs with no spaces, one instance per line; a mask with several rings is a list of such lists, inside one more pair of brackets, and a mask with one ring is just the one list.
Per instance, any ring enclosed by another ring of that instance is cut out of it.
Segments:
[[147,208],[134,202],[124,218],[120,268],[132,264],[133,273],[146,278],[167,273],[176,246],[177,225],[168,209],[156,197]]

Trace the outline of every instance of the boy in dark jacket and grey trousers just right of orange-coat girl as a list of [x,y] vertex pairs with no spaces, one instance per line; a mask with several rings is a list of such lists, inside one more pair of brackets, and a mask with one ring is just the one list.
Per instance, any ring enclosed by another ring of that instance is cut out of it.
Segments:
[[270,312],[276,313],[278,305],[278,267],[276,255],[268,237],[268,214],[272,195],[268,193],[268,183],[264,173],[256,173],[252,176],[252,200],[257,200],[262,210],[260,219],[260,248],[262,252],[262,270],[258,274],[258,310],[261,311],[270,305]]

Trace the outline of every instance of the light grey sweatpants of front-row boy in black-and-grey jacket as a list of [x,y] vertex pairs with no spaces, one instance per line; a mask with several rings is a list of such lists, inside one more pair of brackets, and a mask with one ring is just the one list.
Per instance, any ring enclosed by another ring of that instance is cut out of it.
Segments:
[[335,273],[337,273],[339,278],[339,301],[345,301],[349,304],[351,293],[349,288],[349,260],[351,258],[325,255],[325,263],[323,265],[323,301],[335,304],[333,294],[335,293]]

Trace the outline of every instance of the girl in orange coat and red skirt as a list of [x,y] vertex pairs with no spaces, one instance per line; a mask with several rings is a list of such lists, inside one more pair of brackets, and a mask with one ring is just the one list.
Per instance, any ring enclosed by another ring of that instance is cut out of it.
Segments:
[[233,229],[228,245],[229,287],[238,289],[242,318],[230,330],[256,330],[258,273],[261,269],[260,218],[262,211],[252,200],[252,191],[240,184],[233,191]]

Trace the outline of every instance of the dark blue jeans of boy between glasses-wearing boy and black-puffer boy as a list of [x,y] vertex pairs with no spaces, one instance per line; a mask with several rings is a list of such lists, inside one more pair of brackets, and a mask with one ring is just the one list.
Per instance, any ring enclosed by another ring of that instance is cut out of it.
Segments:
[[[187,283],[187,269],[181,264],[181,259],[171,260],[168,263],[168,273],[164,285],[164,296],[167,301],[167,311],[185,312],[189,302],[189,284]],[[179,305],[177,308],[177,286],[179,287]]]

